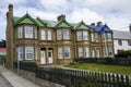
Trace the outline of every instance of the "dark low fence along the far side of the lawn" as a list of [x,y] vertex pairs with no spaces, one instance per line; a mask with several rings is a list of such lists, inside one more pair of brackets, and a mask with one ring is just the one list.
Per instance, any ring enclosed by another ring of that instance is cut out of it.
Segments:
[[76,62],[100,63],[131,66],[131,59],[112,59],[112,58],[75,58]]

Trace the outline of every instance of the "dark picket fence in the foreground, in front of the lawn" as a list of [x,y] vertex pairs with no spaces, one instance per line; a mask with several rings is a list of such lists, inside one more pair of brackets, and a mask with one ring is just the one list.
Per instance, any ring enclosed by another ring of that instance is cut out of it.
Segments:
[[84,70],[37,69],[36,77],[66,87],[131,87],[126,75],[97,73]]

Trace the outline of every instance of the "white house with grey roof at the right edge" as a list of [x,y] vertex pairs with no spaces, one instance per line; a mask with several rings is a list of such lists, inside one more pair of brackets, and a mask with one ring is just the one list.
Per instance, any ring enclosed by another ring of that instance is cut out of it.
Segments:
[[131,25],[129,28],[130,32],[112,30],[115,54],[118,54],[120,51],[131,50]]

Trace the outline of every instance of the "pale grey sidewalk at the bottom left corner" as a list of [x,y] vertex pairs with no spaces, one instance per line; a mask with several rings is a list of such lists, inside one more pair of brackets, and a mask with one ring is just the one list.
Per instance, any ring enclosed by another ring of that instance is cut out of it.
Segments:
[[0,65],[0,73],[12,84],[13,87],[40,87],[26,78],[2,67]]

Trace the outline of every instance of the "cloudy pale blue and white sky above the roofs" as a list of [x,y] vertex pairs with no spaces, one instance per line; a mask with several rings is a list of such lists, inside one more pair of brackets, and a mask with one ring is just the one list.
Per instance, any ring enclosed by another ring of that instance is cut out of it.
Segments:
[[0,39],[5,39],[7,11],[13,4],[13,15],[28,13],[34,18],[57,21],[60,14],[69,23],[84,21],[87,25],[103,22],[111,29],[129,32],[131,0],[0,0]]

